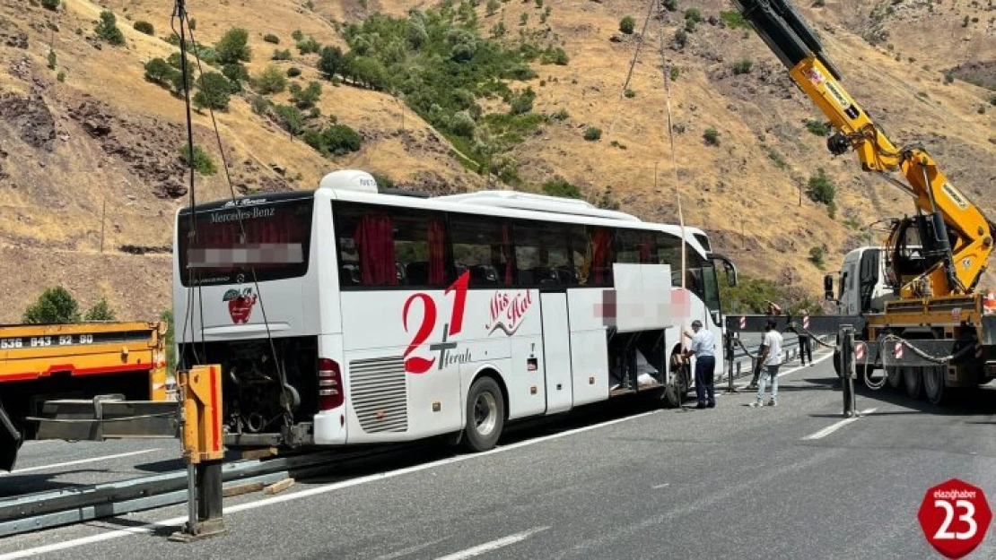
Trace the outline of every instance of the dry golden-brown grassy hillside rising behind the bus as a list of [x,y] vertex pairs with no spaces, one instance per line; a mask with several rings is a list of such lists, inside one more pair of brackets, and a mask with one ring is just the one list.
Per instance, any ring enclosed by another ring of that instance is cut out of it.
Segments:
[[[7,265],[0,290],[8,294],[0,322],[17,320],[37,292],[57,281],[73,286],[84,303],[108,296],[129,317],[149,318],[168,306],[168,259],[124,252],[162,251],[170,242],[173,213],[188,202],[185,168],[177,157],[185,141],[183,103],[145,80],[143,71],[149,60],[177,51],[166,41],[170,4],[65,0],[52,11],[41,2],[0,0],[0,249]],[[509,0],[491,15],[487,1],[477,4],[482,36],[501,22],[508,32],[497,41],[511,47],[525,37],[560,47],[569,58],[566,66],[535,62],[537,78],[510,85],[514,92],[532,88],[534,112],[566,115],[547,118],[503,155],[518,166],[518,188],[560,176],[592,200],[611,189],[622,210],[656,221],[675,221],[680,200],[686,223],[709,231],[747,274],[814,293],[823,271],[808,260],[812,248],[827,252],[832,269],[847,250],[879,235],[870,233],[869,224],[912,210],[896,189],[863,174],[853,156],[833,158],[826,151],[824,138],[806,126],[822,115],[753,33],[724,21],[721,11],[732,10],[727,2],[679,0],[676,11],[654,12],[642,39],[645,2]],[[245,63],[249,74],[256,77],[271,64],[282,72],[298,68],[301,76],[289,82],[302,86],[321,81],[319,56],[295,49],[296,30],[346,50],[337,31],[344,23],[374,12],[404,17],[409,8],[432,5],[187,2],[198,43],[213,45],[229,28],[245,28],[253,53]],[[675,34],[685,26],[687,8],[698,10],[702,21],[679,47]],[[96,38],[95,23],[105,9],[117,15],[124,46]],[[986,89],[996,72],[992,8],[963,0],[828,0],[801,10],[842,69],[846,87],[892,138],[923,143],[952,181],[996,214],[996,106]],[[619,29],[627,15],[635,19],[632,35]],[[135,31],[135,21],[150,23],[154,33]],[[268,34],[279,45],[266,42]],[[678,69],[669,89],[676,180],[661,34],[667,68]],[[623,95],[638,46],[632,93]],[[291,60],[271,61],[274,49],[289,49]],[[54,69],[48,68],[50,52]],[[736,74],[734,65],[745,60],[750,72]],[[445,134],[399,98],[321,82],[321,119],[335,115],[356,129],[361,149],[323,156],[254,111],[252,92],[235,94],[229,109],[215,116],[238,193],[311,188],[323,174],[347,167],[431,192],[487,184],[487,177],[456,159]],[[269,95],[274,103],[289,97],[286,91]],[[498,98],[480,104],[486,111],[508,110]],[[600,128],[601,138],[586,140],[589,127]],[[703,138],[710,127],[718,132],[718,145]],[[228,196],[206,112],[194,114],[194,128],[197,144],[219,166],[214,175],[197,175],[198,200]],[[819,168],[837,185],[834,218],[825,205],[801,196]]]

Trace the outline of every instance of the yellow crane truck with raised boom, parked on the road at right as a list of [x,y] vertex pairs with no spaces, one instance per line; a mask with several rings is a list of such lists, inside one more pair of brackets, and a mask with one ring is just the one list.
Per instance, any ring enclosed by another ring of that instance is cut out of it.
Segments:
[[[876,388],[871,372],[883,369],[889,385],[935,404],[947,400],[951,388],[975,388],[996,378],[992,292],[977,289],[996,225],[951,184],[924,147],[897,146],[885,135],[844,89],[837,67],[789,0],[733,2],[830,121],[830,152],[854,151],[864,171],[908,194],[915,209],[891,221],[882,247],[846,261],[841,293],[856,298],[854,305],[836,315],[781,316],[778,328],[833,334],[853,325],[856,354],[862,354],[857,370],[867,385]],[[832,277],[824,289],[828,299],[835,298]],[[767,318],[727,316],[727,335],[760,331]]]

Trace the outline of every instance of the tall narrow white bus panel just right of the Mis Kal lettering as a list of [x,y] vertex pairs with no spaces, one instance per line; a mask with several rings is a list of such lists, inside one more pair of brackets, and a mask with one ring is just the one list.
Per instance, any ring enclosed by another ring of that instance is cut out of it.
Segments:
[[571,324],[567,292],[540,294],[543,313],[543,365],[546,369],[547,414],[571,409]]

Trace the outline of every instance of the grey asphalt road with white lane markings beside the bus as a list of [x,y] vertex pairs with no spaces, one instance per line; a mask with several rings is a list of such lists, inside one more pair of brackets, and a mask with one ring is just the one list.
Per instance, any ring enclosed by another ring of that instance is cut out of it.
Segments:
[[[873,412],[842,423],[828,357],[786,369],[775,408],[627,401],[488,454],[429,448],[231,498],[227,533],[201,542],[166,540],[174,506],[8,537],[0,560],[939,557],[916,521],[927,487],[958,477],[996,505],[996,390],[950,409],[862,391]],[[969,557],[996,557],[996,536]]]

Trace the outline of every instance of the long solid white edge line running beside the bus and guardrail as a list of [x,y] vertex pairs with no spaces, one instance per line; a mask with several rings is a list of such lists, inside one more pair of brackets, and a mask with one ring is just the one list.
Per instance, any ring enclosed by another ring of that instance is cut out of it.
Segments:
[[[482,457],[487,457],[489,455],[499,454],[507,451],[512,451],[519,448],[525,448],[528,446],[533,446],[536,444],[541,444],[550,440],[556,440],[559,438],[566,438],[568,436],[573,436],[575,434],[581,434],[583,432],[589,432],[591,430],[597,430],[606,426],[612,426],[613,424],[620,424],[622,422],[628,422],[630,420],[635,420],[637,418],[642,418],[644,416],[650,416],[654,414],[659,414],[663,411],[654,410],[650,412],[644,412],[642,414],[636,414],[633,416],[627,416],[625,418],[617,418],[616,420],[610,420],[608,422],[603,422],[602,424],[595,424],[592,426],[585,426],[583,428],[575,428],[574,430],[568,430],[566,432],[561,432],[559,434],[551,434],[549,436],[541,436],[532,440],[526,440],[523,442],[518,442],[508,446],[501,446],[495,448],[491,451],[486,451],[473,455],[462,455],[457,457],[451,457],[448,459],[441,459],[439,461],[433,461],[432,463],[425,463],[422,465],[415,465],[413,467],[396,468],[394,470],[388,470],[386,472],[377,472],[375,474],[368,474],[367,476],[360,476],[358,478],[353,478],[350,480],[342,480],[340,482],[333,482],[330,484],[324,484],[321,486],[314,486],[308,489],[300,490],[297,492],[286,493],[283,495],[276,495],[273,497],[264,498],[258,501],[250,501],[245,503],[239,503],[231,507],[225,507],[225,513],[237,513],[239,511],[247,509],[256,509],[257,507],[263,507],[265,505],[271,505],[274,503],[282,503],[285,501],[291,501],[293,499],[300,499],[303,497],[310,497],[313,495],[319,495],[335,491],[342,488],[347,488],[350,486],[356,486],[359,484],[366,484],[368,482],[373,482],[376,480],[384,480],[387,478],[393,478],[395,476],[400,476],[402,474],[408,474],[410,472],[417,472],[419,470],[425,470],[428,468],[443,467],[445,465],[451,465],[453,463],[462,463],[464,461],[470,461],[472,459],[478,459]],[[73,540],[66,540],[62,542],[56,542],[52,544],[46,544],[44,546],[36,546],[35,548],[28,548],[25,550],[18,550],[16,552],[9,552],[7,554],[0,554],[0,560],[13,560],[14,558],[27,558],[30,556],[37,556],[39,554],[46,554],[48,552],[55,552],[57,550],[66,550],[67,548],[76,548],[79,546],[84,546],[87,544],[93,544],[96,542],[103,542],[106,540],[116,539],[119,537],[124,537],[127,535],[151,533],[155,530],[169,527],[176,527],[187,520],[187,516],[173,517],[171,519],[164,519],[162,521],[155,521],[153,523],[147,523],[145,525],[139,525],[137,527],[127,527],[124,529],[116,529],[114,531],[108,531],[106,533],[101,533],[97,535],[91,535],[88,537],[81,537]]]

